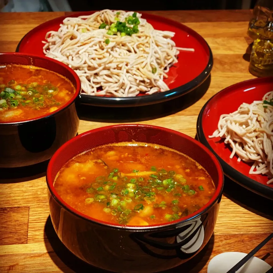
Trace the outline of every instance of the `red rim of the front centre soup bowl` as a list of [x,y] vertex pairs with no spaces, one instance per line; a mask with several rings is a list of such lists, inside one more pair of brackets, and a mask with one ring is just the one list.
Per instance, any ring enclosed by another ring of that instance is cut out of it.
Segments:
[[[202,208],[197,210],[196,212],[190,214],[189,216],[180,218],[180,219],[172,221],[172,222],[167,222],[167,223],[163,223],[163,224],[154,224],[154,225],[149,225],[149,226],[125,226],[125,225],[121,225],[121,224],[112,224],[112,223],[109,223],[109,222],[101,221],[101,220],[92,218],[90,216],[87,216],[87,215],[75,210],[70,205],[68,205],[59,196],[59,194],[57,193],[57,191],[53,187],[54,181],[52,181],[51,177],[52,177],[52,167],[53,167],[55,161],[58,160],[58,157],[61,156],[63,151],[67,150],[67,148],[72,143],[80,141],[81,137],[86,136],[86,135],[90,135],[90,134],[92,135],[92,133],[99,132],[99,131],[105,131],[105,130],[108,130],[108,129],[122,128],[122,127],[140,127],[140,128],[158,129],[160,131],[166,131],[168,133],[179,135],[182,138],[186,138],[187,140],[193,142],[194,144],[196,144],[197,146],[202,148],[208,154],[208,156],[210,156],[210,158],[214,162],[217,173],[218,173],[218,177],[219,177],[218,186],[216,187],[216,191],[215,191],[214,195],[212,196],[212,198],[209,200],[209,202],[205,206],[203,206]],[[62,207],[64,207],[66,210],[68,210],[70,213],[72,213],[73,215],[75,215],[77,217],[80,217],[80,218],[82,218],[84,220],[96,223],[98,225],[108,226],[109,228],[126,229],[126,230],[131,230],[131,231],[147,231],[147,230],[152,230],[152,229],[167,228],[167,227],[169,228],[171,226],[176,226],[180,222],[185,222],[185,221],[191,220],[193,218],[197,218],[198,216],[200,216],[204,212],[206,212],[209,208],[211,208],[214,205],[215,202],[218,201],[219,197],[221,197],[221,195],[222,195],[222,191],[223,191],[223,187],[224,187],[224,173],[223,173],[222,167],[221,167],[218,159],[216,158],[216,156],[208,148],[206,148],[206,146],[204,146],[201,142],[195,140],[194,138],[192,138],[192,137],[190,137],[188,135],[185,135],[183,133],[180,133],[178,131],[175,131],[175,130],[172,130],[172,129],[167,129],[167,128],[160,127],[160,126],[128,123],[128,124],[109,125],[109,126],[104,126],[104,127],[99,127],[99,128],[96,128],[96,129],[92,129],[92,130],[84,132],[84,133],[72,138],[71,140],[67,141],[51,157],[51,159],[49,161],[49,164],[47,166],[47,171],[46,171],[46,183],[47,183],[47,188],[48,188],[49,192],[51,193],[53,198],[57,201],[57,203],[59,203]]]

